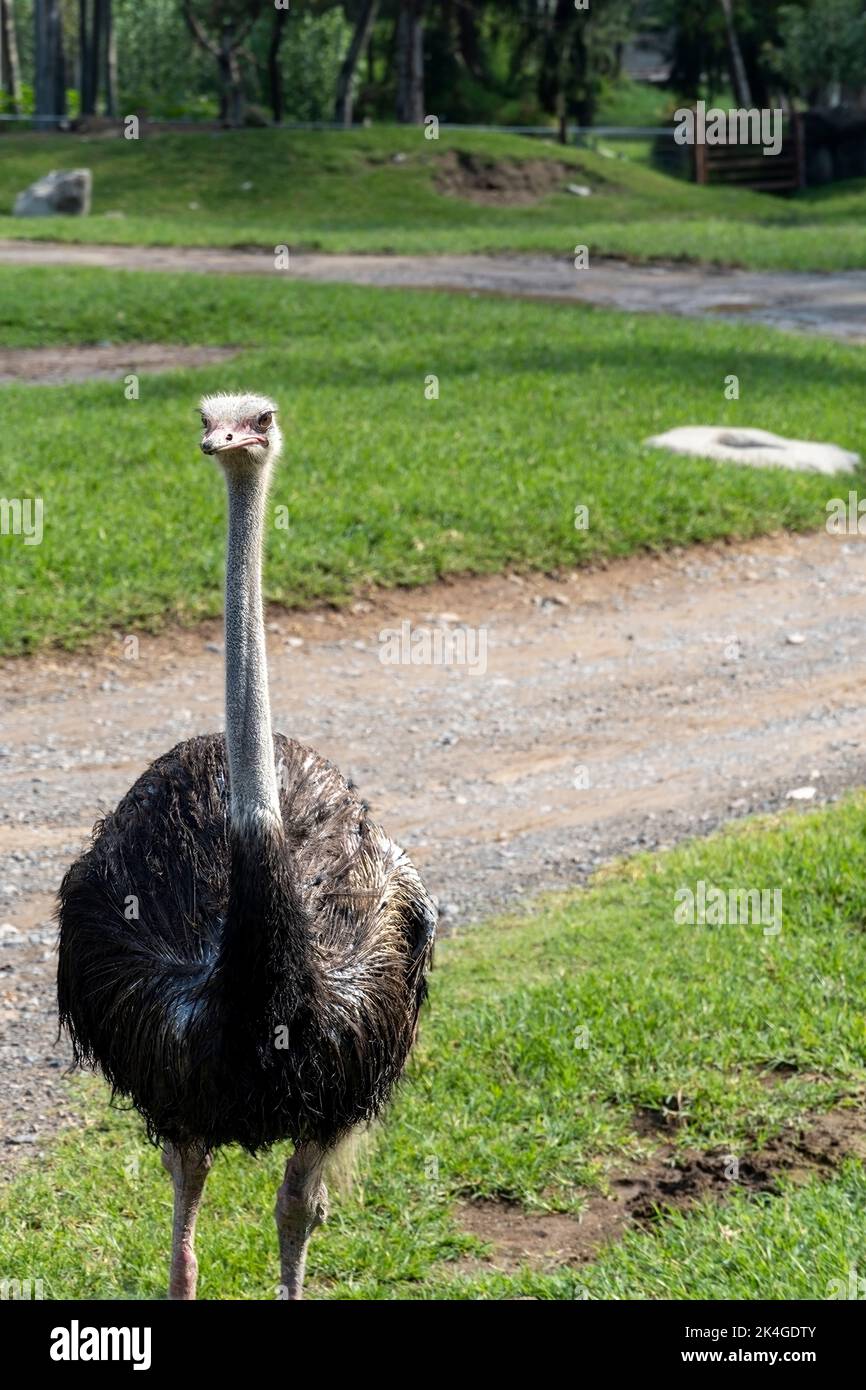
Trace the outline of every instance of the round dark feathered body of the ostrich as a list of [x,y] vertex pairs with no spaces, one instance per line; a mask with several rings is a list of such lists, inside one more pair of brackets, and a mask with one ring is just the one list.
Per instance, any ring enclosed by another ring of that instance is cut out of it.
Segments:
[[282,834],[229,827],[225,739],[179,744],[60,890],[58,1005],[154,1140],[335,1144],[411,1048],[435,910],[341,773],[275,735]]

